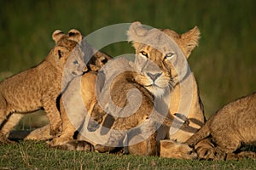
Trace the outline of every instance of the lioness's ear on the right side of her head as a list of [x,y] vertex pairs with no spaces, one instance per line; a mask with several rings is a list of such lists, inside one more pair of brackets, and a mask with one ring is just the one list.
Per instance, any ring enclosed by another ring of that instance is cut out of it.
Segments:
[[181,35],[181,40],[183,42],[185,55],[187,58],[189,58],[189,55],[191,54],[195,46],[198,45],[199,38],[200,31],[197,28],[197,26],[195,26],[192,30],[189,30]]

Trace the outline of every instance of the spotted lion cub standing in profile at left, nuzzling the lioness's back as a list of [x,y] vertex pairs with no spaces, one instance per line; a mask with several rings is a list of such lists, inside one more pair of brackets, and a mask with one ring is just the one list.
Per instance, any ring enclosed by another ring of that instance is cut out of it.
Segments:
[[[68,34],[56,30],[52,34],[55,47],[37,66],[0,82],[0,141],[9,142],[9,131],[22,114],[44,109],[49,119],[50,133],[61,130],[61,116],[56,102],[67,83],[87,70],[84,52],[77,30]],[[61,89],[62,88],[62,89]],[[21,114],[15,114],[21,113]]]

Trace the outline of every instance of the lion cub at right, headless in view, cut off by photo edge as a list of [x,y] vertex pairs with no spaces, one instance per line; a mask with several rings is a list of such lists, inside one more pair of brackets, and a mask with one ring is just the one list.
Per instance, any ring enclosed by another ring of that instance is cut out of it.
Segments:
[[[222,109],[212,116],[201,129],[186,141],[186,144],[195,146],[202,140],[206,142],[203,150],[201,146],[198,149],[215,160],[224,160],[226,156],[234,153],[241,148],[243,144],[255,144],[256,142],[256,93],[247,95],[241,99],[225,105]],[[212,138],[213,144],[207,137]],[[256,156],[256,153],[254,153]]]

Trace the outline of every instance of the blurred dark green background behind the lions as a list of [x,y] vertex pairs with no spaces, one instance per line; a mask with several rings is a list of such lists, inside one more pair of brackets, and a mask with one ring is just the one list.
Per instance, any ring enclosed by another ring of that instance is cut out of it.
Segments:
[[[0,80],[37,65],[53,48],[56,29],[84,36],[104,26],[141,21],[183,33],[198,26],[199,47],[189,65],[199,83],[207,117],[256,89],[256,3],[253,0],[6,0],[0,6]],[[133,53],[131,44],[107,48]]]

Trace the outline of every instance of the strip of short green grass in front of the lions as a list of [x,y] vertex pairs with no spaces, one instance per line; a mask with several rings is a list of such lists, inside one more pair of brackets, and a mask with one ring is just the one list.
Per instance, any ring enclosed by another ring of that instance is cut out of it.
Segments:
[[0,145],[0,169],[256,169],[255,160],[186,161],[156,156],[49,149],[44,142]]

